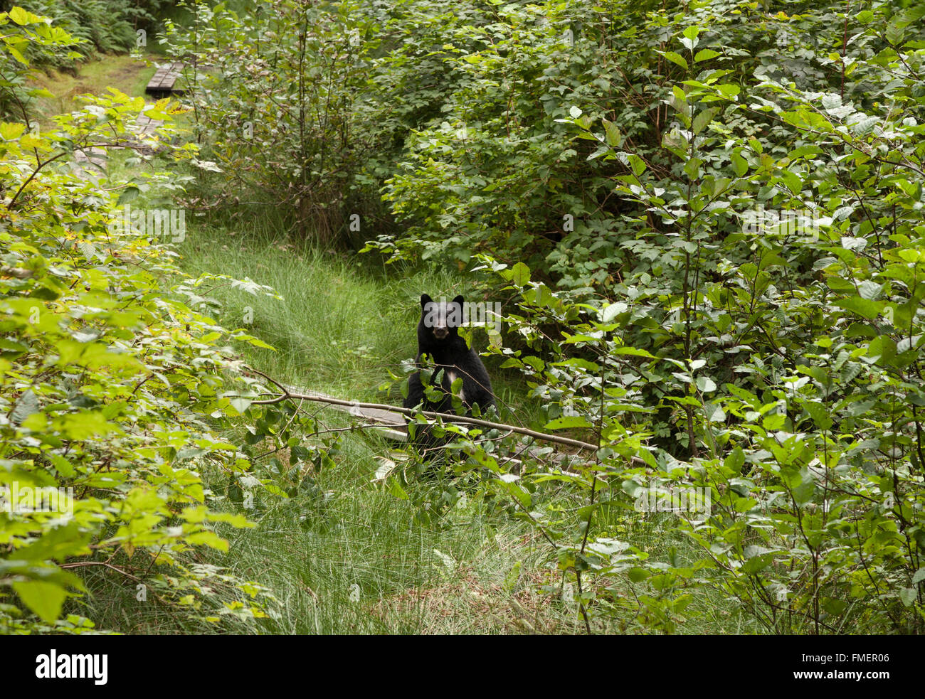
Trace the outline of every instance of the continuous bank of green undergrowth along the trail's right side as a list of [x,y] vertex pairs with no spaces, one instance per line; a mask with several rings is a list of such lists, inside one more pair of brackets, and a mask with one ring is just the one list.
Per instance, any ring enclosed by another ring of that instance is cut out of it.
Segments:
[[[502,302],[499,369],[601,449],[513,474],[489,434],[455,472],[546,537],[587,630],[708,592],[771,632],[920,630],[919,6],[270,5],[172,37],[218,68],[192,128],[231,178],[200,186]],[[660,499],[697,553],[596,529]]]

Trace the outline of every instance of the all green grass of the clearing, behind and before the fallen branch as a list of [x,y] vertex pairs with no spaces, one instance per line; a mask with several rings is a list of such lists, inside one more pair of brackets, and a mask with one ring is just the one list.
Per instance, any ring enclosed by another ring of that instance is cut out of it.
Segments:
[[[253,313],[251,332],[277,349],[247,350],[248,362],[283,383],[341,398],[399,402],[377,387],[389,369],[413,358],[419,294],[465,293],[464,279],[443,269],[384,271],[372,266],[375,258],[300,250],[278,235],[272,216],[252,219],[258,220],[247,232],[192,226],[179,246],[192,275],[249,277],[283,297],[229,286],[208,290],[207,298],[219,303],[216,320],[240,326]],[[516,410],[502,416],[535,423],[536,407],[524,399],[520,379],[505,380],[496,367],[489,371]],[[340,413],[318,414],[326,426],[347,424]],[[425,526],[414,521],[407,500],[371,484],[376,456],[392,448],[373,435],[345,435],[336,467],[311,474],[312,495],[259,503],[247,512],[258,522],[251,530],[222,528],[230,552],[212,562],[269,587],[281,603],[278,615],[265,621],[266,632],[584,631],[573,605],[549,592],[560,583],[549,545],[522,522],[468,501],[440,526]],[[257,468],[272,470],[267,460]],[[220,492],[221,478],[213,477]],[[602,509],[600,517],[603,531],[656,557],[669,546],[682,554],[688,546],[673,533],[670,518],[647,521],[618,509]],[[520,578],[505,583],[518,562]],[[544,584],[548,591],[540,592]],[[741,615],[719,599],[705,597],[694,606],[712,618],[685,632],[743,631]]]

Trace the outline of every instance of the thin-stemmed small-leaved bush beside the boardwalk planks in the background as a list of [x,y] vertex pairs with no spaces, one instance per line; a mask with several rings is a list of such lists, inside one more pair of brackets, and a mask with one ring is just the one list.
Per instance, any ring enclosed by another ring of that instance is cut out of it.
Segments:
[[189,66],[196,140],[221,172],[206,184],[211,205],[256,197],[288,212],[300,238],[345,238],[374,145],[362,90],[375,31],[360,4],[264,0],[239,16],[198,3],[190,27],[167,29]]

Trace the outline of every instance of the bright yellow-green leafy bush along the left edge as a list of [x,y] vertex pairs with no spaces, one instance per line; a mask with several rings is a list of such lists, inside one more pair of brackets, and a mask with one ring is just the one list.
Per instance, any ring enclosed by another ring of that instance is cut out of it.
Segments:
[[[7,99],[26,104],[28,68],[17,50],[73,39],[14,8],[0,14]],[[218,508],[203,471],[250,479],[238,448],[215,421],[239,412],[226,394],[246,391],[233,342],[259,343],[192,310],[202,280],[179,273],[175,253],[150,229],[115,225],[141,190],[176,178],[107,180],[73,165],[90,146],[151,148],[132,139],[142,113],[175,133],[166,100],[145,104],[117,91],[38,133],[0,123],[0,627],[6,632],[87,632],[82,571],[117,573],[136,599],[207,626],[253,624],[272,598],[203,565],[198,546],[226,550],[216,524],[249,526]],[[179,147],[178,158],[194,150]],[[179,231],[181,233],[181,231]],[[184,302],[186,300],[187,302]],[[188,303],[190,305],[188,305]],[[46,499],[37,497],[43,493]],[[150,598],[149,598],[150,595]],[[224,603],[224,604],[223,604]],[[62,616],[62,615],[66,616]]]

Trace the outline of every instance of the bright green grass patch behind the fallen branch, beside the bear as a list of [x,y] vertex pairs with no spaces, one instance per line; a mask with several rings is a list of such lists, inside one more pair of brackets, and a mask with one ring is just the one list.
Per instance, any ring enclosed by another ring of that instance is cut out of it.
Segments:
[[[253,296],[229,286],[207,283],[207,298],[229,326],[247,327],[277,351],[253,350],[253,366],[296,386],[346,399],[401,401],[377,391],[388,371],[401,373],[401,361],[417,352],[416,326],[423,292],[437,298],[465,294],[458,273],[449,270],[372,268],[372,256],[332,251],[300,251],[273,231],[237,234],[231,228],[191,227],[180,246],[183,266],[203,272],[250,278],[274,288],[282,300]],[[248,323],[247,321],[250,321]],[[476,346],[487,342],[475,331]],[[499,362],[486,360],[489,370]],[[493,381],[508,409],[502,415],[533,422],[530,405],[518,398],[519,375]],[[512,412],[514,414],[512,414]]]

